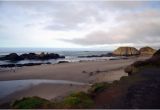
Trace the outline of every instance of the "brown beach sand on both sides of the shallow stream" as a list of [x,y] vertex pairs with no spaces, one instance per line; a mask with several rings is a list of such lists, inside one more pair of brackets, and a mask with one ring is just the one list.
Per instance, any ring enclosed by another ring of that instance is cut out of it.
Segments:
[[[132,58],[125,60],[88,61],[76,63],[63,63],[54,65],[40,65],[22,67],[0,72],[0,81],[22,79],[52,79],[69,80],[84,83],[119,80],[126,76],[124,68],[127,65],[146,58]],[[46,99],[55,99],[65,96],[73,91],[86,91],[89,86],[67,84],[39,84],[37,86],[17,91],[0,99],[1,102],[18,99],[24,96],[40,96]]]

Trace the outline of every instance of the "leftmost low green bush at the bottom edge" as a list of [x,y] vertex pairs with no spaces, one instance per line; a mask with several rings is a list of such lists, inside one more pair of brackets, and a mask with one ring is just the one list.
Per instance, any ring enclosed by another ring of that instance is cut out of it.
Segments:
[[16,100],[12,104],[15,109],[35,109],[35,108],[48,108],[50,102],[46,99],[39,97],[27,97],[21,100]]

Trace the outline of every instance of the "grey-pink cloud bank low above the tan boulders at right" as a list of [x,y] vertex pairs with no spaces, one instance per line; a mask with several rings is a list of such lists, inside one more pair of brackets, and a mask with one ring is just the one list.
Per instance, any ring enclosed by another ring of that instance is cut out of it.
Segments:
[[134,45],[160,43],[160,14],[157,10],[125,12],[116,17],[120,25],[109,31],[91,31],[83,38],[66,40],[79,45],[133,43]]

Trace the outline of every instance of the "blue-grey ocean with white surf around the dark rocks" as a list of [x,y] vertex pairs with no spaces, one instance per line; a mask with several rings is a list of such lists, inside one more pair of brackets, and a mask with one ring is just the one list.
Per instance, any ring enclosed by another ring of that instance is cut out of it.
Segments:
[[59,55],[65,56],[65,59],[50,59],[50,60],[22,60],[18,62],[10,62],[10,61],[0,61],[0,64],[26,64],[26,63],[51,63],[55,64],[59,61],[68,61],[68,62],[79,62],[79,61],[101,61],[108,60],[113,57],[92,57],[80,58],[79,56],[91,56],[91,55],[102,55],[107,54],[111,51],[83,51],[83,50],[65,50],[65,49],[51,49],[51,48],[0,48],[0,57],[10,54],[10,53],[57,53]]

